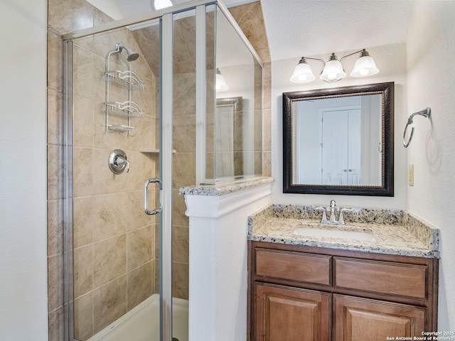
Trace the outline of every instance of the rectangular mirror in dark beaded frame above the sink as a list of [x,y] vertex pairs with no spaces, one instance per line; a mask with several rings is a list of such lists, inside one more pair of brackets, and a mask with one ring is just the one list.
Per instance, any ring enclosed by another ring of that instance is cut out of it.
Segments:
[[393,196],[394,83],[283,93],[283,193]]

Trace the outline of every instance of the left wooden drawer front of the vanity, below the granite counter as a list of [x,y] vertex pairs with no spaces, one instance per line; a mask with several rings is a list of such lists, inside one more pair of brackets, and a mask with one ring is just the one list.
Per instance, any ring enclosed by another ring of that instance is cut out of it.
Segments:
[[256,249],[255,272],[259,276],[330,285],[331,256]]

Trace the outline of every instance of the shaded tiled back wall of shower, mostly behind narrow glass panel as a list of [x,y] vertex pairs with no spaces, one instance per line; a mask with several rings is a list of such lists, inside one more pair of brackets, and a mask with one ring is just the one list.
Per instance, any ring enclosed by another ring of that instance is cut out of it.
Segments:
[[[179,18],[173,28],[173,296],[188,299],[189,222],[185,215],[184,197],[178,195],[178,188],[196,181],[196,75],[193,55],[196,32],[193,16]],[[154,75],[159,77],[159,26],[148,26],[132,31],[132,34],[141,46]],[[156,98],[158,97],[157,93]],[[156,112],[159,112],[158,104],[156,102]],[[158,136],[157,131],[156,137]],[[158,163],[156,174],[159,174]],[[158,229],[159,226],[156,225],[156,236],[159,235]],[[155,256],[159,259],[159,238],[155,242]],[[158,281],[156,276],[156,291],[159,288]]]

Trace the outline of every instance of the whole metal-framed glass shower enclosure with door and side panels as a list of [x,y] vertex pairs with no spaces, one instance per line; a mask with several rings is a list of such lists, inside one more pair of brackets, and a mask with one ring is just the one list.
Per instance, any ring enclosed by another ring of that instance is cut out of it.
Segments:
[[98,21],[63,37],[66,334],[187,341],[178,188],[262,175],[262,63],[218,1]]

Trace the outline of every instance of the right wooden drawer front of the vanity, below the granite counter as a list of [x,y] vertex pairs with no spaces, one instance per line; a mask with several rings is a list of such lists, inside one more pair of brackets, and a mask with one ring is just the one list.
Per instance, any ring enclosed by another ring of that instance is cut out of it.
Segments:
[[427,266],[341,257],[333,261],[338,288],[426,298]]

